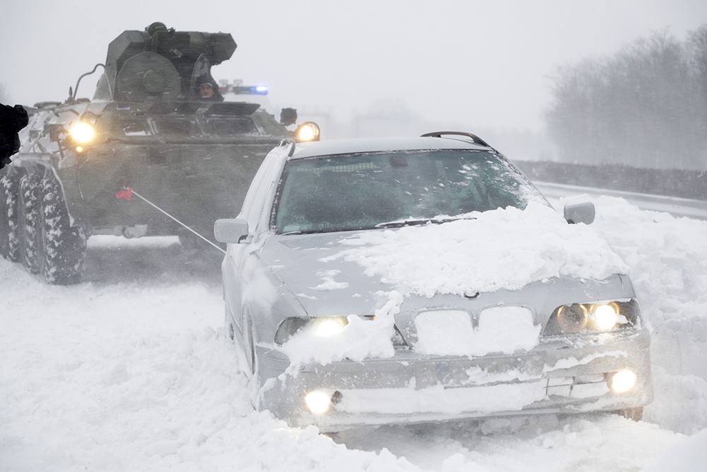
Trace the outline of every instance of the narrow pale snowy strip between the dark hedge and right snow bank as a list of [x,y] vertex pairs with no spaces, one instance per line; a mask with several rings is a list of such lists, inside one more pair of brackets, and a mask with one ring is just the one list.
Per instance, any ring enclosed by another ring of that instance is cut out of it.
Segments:
[[603,188],[580,187],[578,185],[564,185],[551,182],[534,181],[534,184],[549,198],[569,197],[583,193],[596,197],[608,195],[609,197],[621,197],[627,202],[636,205],[638,208],[653,212],[667,212],[676,217],[707,219],[707,202],[703,200],[665,197],[663,195],[650,195],[648,193],[623,192]]

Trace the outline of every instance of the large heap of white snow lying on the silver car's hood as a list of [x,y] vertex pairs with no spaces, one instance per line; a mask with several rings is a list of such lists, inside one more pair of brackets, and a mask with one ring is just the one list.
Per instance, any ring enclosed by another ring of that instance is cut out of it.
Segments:
[[334,257],[355,261],[404,293],[426,297],[520,289],[568,275],[604,279],[627,267],[591,227],[571,225],[554,209],[531,202],[475,213],[476,219],[366,231]]

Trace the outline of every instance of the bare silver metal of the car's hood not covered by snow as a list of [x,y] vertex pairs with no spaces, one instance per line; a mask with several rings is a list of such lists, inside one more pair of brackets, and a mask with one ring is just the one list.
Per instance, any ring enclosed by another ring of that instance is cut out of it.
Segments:
[[[262,247],[261,257],[310,316],[373,315],[390,298],[387,292],[396,287],[382,282],[376,275],[366,275],[364,267],[339,256],[351,248],[344,241],[357,234],[270,236]],[[563,304],[633,296],[628,278],[618,274],[604,280],[553,277],[517,290],[499,289],[465,294],[464,297],[405,294],[396,323],[430,309],[462,309],[478,313],[489,306],[518,305],[530,308],[536,321],[544,324],[550,313]]]

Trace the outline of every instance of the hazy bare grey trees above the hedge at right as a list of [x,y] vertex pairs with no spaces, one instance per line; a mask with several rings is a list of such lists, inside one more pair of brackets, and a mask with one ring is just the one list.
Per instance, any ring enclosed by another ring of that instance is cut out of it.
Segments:
[[561,67],[552,96],[561,161],[707,169],[707,24]]

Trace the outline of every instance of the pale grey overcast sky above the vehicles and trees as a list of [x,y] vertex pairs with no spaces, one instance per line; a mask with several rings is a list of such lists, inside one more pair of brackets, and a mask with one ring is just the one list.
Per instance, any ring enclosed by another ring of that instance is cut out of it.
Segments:
[[531,131],[542,131],[559,64],[707,23],[705,0],[0,0],[0,11],[0,83],[13,102],[66,98],[122,30],[162,21],[232,33],[238,49],[214,77],[267,84],[278,105],[344,118],[408,108],[440,127]]

